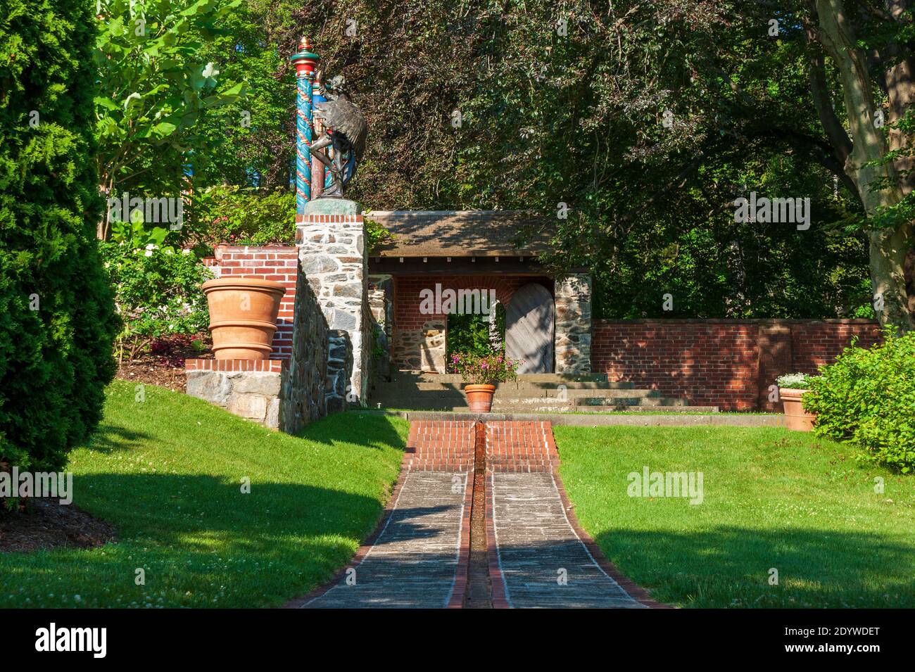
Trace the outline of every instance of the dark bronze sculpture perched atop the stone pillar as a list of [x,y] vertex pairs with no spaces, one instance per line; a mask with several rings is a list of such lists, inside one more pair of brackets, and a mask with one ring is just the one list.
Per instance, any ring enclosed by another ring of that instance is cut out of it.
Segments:
[[[315,103],[314,115],[324,124],[325,130],[311,145],[311,155],[328,166],[332,179],[321,197],[342,197],[365,153],[368,126],[346,91],[322,92],[328,100]],[[333,149],[332,156],[328,155],[328,147]]]

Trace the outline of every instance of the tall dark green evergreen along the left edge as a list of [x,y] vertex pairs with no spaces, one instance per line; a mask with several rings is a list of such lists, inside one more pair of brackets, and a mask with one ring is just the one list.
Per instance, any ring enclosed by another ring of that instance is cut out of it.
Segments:
[[114,375],[93,8],[6,0],[0,20],[0,463],[34,471],[66,464]]

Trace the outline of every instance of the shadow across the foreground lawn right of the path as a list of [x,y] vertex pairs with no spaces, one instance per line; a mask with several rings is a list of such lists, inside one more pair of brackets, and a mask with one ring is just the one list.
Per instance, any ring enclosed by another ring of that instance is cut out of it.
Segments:
[[[865,532],[618,529],[596,541],[657,599],[687,606],[915,606],[912,547]],[[778,585],[770,585],[771,569]]]

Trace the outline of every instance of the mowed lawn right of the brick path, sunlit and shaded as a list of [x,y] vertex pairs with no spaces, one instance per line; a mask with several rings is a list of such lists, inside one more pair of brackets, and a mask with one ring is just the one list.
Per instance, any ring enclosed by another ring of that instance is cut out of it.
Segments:
[[[780,428],[554,427],[576,515],[633,581],[684,607],[915,607],[915,478]],[[704,498],[630,497],[702,472]],[[875,478],[884,492],[875,492]],[[778,584],[770,584],[771,570]]]

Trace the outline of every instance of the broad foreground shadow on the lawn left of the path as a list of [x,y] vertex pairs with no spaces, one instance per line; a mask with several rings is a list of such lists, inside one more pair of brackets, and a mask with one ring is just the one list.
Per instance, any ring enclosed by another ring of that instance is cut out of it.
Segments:
[[[0,554],[0,588],[16,586],[0,606],[76,606],[59,603],[74,594],[88,607],[151,595],[165,606],[278,605],[328,581],[382,513],[371,496],[256,478],[250,494],[209,475],[79,475],[74,490],[118,539]],[[137,568],[144,586],[135,585]]]

